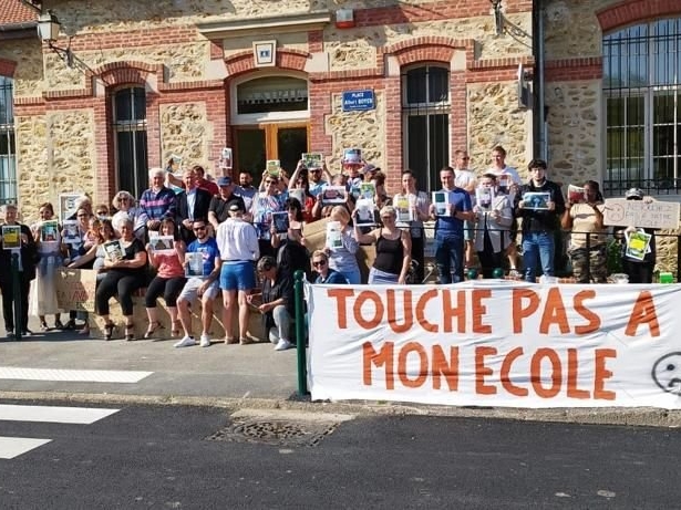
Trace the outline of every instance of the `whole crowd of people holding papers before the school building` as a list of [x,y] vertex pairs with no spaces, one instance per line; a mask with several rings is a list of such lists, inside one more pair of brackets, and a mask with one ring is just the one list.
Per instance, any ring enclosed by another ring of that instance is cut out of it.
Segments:
[[[535,282],[538,269],[551,277],[555,235],[560,229],[575,231],[568,254],[576,280],[606,281],[608,230],[598,183],[589,180],[580,199],[566,201],[561,187],[547,178],[541,159],[529,162],[529,178],[523,183],[517,170],[506,165],[501,146],[494,147],[493,163],[483,173],[468,168],[465,150],[454,156],[454,166],[440,171],[441,189],[420,190],[414,174],[405,170],[392,197],[381,169],[357,159],[343,160],[336,174],[323,162],[307,167],[301,159],[290,176],[281,168],[265,170],[259,187],[247,171],[239,173],[236,183],[230,176],[211,180],[200,166],[185,169],[182,176],[153,168],[149,188],[138,199],[121,190],[110,208],[93,207],[83,196],[66,218],[69,231],[60,223],[55,235],[45,235],[45,226],[55,220],[51,204],[40,207],[40,219],[30,227],[18,221],[17,206],[8,205],[4,226],[18,226],[19,239],[0,250],[7,335],[12,336],[16,329],[30,335],[29,314],[39,318],[43,331],[50,329],[48,316],[53,315],[55,329],[90,333],[86,313],[59,309],[54,275],[58,268],[68,267],[96,270],[95,313],[104,320],[106,340],[135,340],[133,295],[146,287],[145,339],[164,327],[157,311],[163,296],[171,334],[179,337],[175,346],[209,346],[214,302],[221,295],[226,344],[252,342],[248,320],[257,310],[275,348],[282,351],[295,343],[296,271],[327,284],[421,283],[429,221],[435,229],[438,283],[461,282],[474,266],[484,278],[507,272]],[[632,189],[627,198],[644,197]],[[327,221],[323,246],[306,238],[306,226],[322,218]],[[639,230],[628,226],[616,229],[616,235]],[[375,247],[365,278],[358,261],[362,244]],[[19,256],[20,324],[14,324],[16,281],[8,269],[13,253]],[[644,257],[626,254],[623,264],[631,282],[650,282],[654,237]],[[121,325],[110,318],[112,298],[121,303]],[[197,301],[202,331],[195,335],[190,310]],[[65,323],[62,313],[69,313]]]

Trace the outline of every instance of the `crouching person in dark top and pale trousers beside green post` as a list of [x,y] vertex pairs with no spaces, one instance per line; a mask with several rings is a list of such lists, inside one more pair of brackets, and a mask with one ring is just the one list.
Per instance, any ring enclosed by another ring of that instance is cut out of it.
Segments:
[[[258,274],[262,278],[262,290],[248,296],[248,302],[262,314],[265,331],[275,351],[293,346],[291,324],[296,316],[293,279],[277,267],[274,257],[265,256],[258,261]],[[260,303],[258,304],[258,296]]]

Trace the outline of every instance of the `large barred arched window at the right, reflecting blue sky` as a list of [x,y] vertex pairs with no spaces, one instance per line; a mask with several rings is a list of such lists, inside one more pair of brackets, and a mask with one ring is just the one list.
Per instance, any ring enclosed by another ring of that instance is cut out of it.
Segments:
[[681,18],[603,38],[607,195],[681,190]]

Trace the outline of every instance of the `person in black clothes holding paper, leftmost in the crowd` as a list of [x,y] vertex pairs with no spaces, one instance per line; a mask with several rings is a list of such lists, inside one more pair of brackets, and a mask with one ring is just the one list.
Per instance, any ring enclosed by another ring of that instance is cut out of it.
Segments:
[[[14,337],[14,326],[21,329],[24,336],[29,330],[29,290],[35,278],[35,264],[39,261],[38,247],[31,229],[17,221],[17,206],[4,206],[4,225],[2,226],[2,249],[0,249],[0,291],[2,292],[2,313],[4,331],[8,339]],[[12,238],[12,239],[10,239]],[[14,324],[14,280],[12,278],[12,256],[19,262],[19,299],[21,300],[21,324]]]

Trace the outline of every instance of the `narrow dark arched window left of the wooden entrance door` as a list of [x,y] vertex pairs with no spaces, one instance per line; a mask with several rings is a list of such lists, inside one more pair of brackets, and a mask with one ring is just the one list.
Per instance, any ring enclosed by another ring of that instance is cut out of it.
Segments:
[[142,191],[148,188],[144,87],[114,92],[112,113],[117,187],[140,198]]

